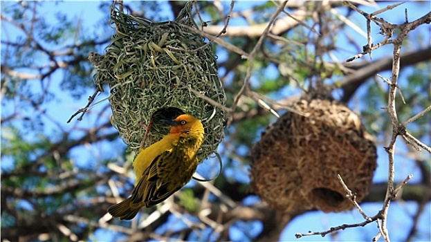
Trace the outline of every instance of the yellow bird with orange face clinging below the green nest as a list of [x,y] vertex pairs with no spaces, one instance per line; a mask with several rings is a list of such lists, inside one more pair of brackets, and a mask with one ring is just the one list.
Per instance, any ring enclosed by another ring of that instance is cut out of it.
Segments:
[[113,217],[129,220],[141,207],[165,201],[187,184],[196,171],[196,153],[204,134],[201,121],[182,114],[161,122],[171,126],[170,133],[147,149],[140,148],[134,160],[135,187],[129,198],[108,208]]

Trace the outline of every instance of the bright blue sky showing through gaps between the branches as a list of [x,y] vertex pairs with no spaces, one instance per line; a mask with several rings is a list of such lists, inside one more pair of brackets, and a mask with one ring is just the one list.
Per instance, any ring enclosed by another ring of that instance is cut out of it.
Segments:
[[[228,11],[228,5],[230,2],[222,1],[223,6],[225,6],[226,12]],[[241,9],[241,8],[248,8],[252,2],[247,1],[238,1],[235,6],[235,10]],[[253,2],[258,3],[258,2]],[[8,2],[2,2],[2,5],[7,5]],[[102,37],[103,31],[106,29],[100,28],[100,24],[103,24],[100,22],[100,19],[108,15],[108,13],[102,13],[100,12],[98,6],[98,1],[64,1],[64,2],[46,2],[43,4],[43,7],[39,9],[41,13],[45,13],[46,18],[48,21],[56,21],[55,18],[51,15],[52,12],[61,11],[64,12],[66,15],[75,17],[76,19],[79,19],[82,23],[82,26],[84,29],[89,30],[89,32],[94,32],[94,30],[98,30],[99,32],[96,32],[95,38]],[[387,2],[380,4],[380,6],[386,6]],[[418,16],[425,15],[428,11],[430,11],[430,1],[425,2],[408,2],[405,3],[404,6],[398,7],[394,10],[390,10],[389,12],[386,12],[380,17],[383,17],[384,19],[387,19],[388,21],[392,21],[393,23],[399,23],[401,24],[404,21],[404,9],[407,8],[409,10],[409,19],[416,19]],[[361,7],[362,10],[365,10],[367,12],[372,12],[376,10],[376,8],[372,7]],[[167,16],[169,17],[169,16]],[[358,24],[362,30],[366,30],[365,28],[365,19],[361,17],[360,15],[355,15],[354,18],[350,19],[354,24]],[[244,24],[243,21],[232,19],[231,25],[241,25]],[[6,34],[8,34],[9,37],[13,37],[14,35],[20,35],[21,33],[15,32],[15,30],[11,26],[6,26],[2,24],[2,33],[1,38],[5,38]],[[374,32],[377,32],[376,26],[373,27]],[[425,28],[421,28],[420,30],[417,30],[416,32],[412,32],[412,35],[418,35],[418,32],[423,31],[430,31],[429,26]],[[351,35],[358,36],[355,30],[350,30]],[[426,35],[425,35],[426,37]],[[383,37],[380,35],[373,35],[373,38],[375,42],[377,42],[379,39],[381,40]],[[13,38],[12,38],[13,39]],[[345,38],[340,38],[338,41],[346,41]],[[426,41],[425,41],[426,42]],[[429,35],[428,35],[428,43],[430,42]],[[363,43],[366,43],[366,39],[363,39]],[[346,44],[348,46],[348,44]],[[99,51],[101,53],[101,51]],[[376,51],[374,51],[373,56],[374,58],[378,59],[379,57],[387,56],[392,53],[392,46],[385,46],[383,48],[380,48]],[[223,59],[225,58],[223,56],[223,53],[218,53],[219,58]],[[351,50],[351,55],[356,55],[355,50]],[[338,53],[337,57],[339,59],[347,59],[351,57],[351,55],[346,55],[345,53]],[[368,57],[365,57],[368,58]],[[272,71],[271,71],[272,70]],[[268,75],[269,73],[273,72],[273,68],[268,67]],[[408,73],[411,72],[411,69],[408,68],[405,69],[401,73],[400,81],[401,84],[405,82],[405,77]],[[380,75],[389,77],[390,72],[383,72],[380,73]],[[89,77],[90,78],[90,77]],[[53,76],[53,80],[61,80],[62,79],[62,73],[55,73]],[[62,90],[59,88],[59,86],[52,85],[53,88],[58,89],[55,90],[55,92],[61,92]],[[35,89],[40,89],[40,86],[35,84]],[[363,92],[363,91],[362,91]],[[85,115],[84,120],[81,122],[73,121],[71,124],[66,124],[66,120],[70,117],[72,113],[74,113],[77,109],[82,108],[86,104],[86,97],[91,95],[93,93],[93,90],[86,90],[86,94],[82,95],[81,100],[75,100],[73,97],[70,97],[68,95],[62,95],[61,99],[58,100],[59,102],[56,102],[55,104],[50,103],[46,106],[48,115],[51,115],[51,117],[55,117],[55,120],[62,126],[63,129],[70,130],[72,127],[82,127],[82,128],[88,128],[94,126],[96,123],[100,122],[98,120],[98,117],[95,115]],[[362,95],[363,93],[358,93],[358,95]],[[107,94],[102,94],[98,97],[98,100],[102,100],[104,97],[107,97]],[[95,111],[98,111],[102,108],[104,105],[98,105],[94,107]],[[2,116],[6,115],[8,112],[12,112],[11,106],[3,106]],[[61,108],[59,108],[61,107]],[[384,111],[381,111],[384,113]],[[48,124],[51,123],[49,120],[44,120]],[[55,134],[57,131],[57,126],[55,124],[50,124],[46,127],[46,133],[49,133],[51,135]],[[3,135],[3,133],[2,133]],[[82,136],[82,133],[73,133],[73,136],[80,137]],[[112,149],[112,147],[115,146],[116,149]],[[405,145],[403,143],[403,140],[398,140],[397,143],[398,149],[405,150]],[[91,145],[91,149],[86,150],[73,150],[71,157],[73,157],[77,162],[84,161],[80,163],[80,166],[82,167],[94,167],[96,164],[88,163],[89,156],[109,156],[109,157],[117,157],[119,159],[122,150],[127,149],[126,145],[121,142],[121,140],[116,140],[114,142],[100,142],[97,144]],[[223,148],[221,148],[223,149]],[[106,151],[109,151],[109,154],[107,154]],[[426,154],[425,154],[426,155]],[[428,156],[429,157],[429,156]],[[387,180],[387,154],[383,150],[383,147],[378,147],[378,168],[376,170],[374,180],[375,181],[384,181]],[[97,159],[94,159],[97,160]],[[415,168],[414,166],[410,165],[410,160],[400,160],[400,162],[396,163],[396,181],[403,180],[408,174],[414,174],[414,178],[412,180],[412,183],[419,180],[419,170]],[[215,164],[215,163],[214,163]],[[8,166],[11,164],[8,164],[6,161],[1,162],[1,167]],[[217,165],[217,164],[216,164]],[[235,171],[233,170],[226,170],[226,174],[234,174]],[[247,180],[246,174],[242,174],[237,179],[239,180]],[[253,201],[257,200],[257,198],[248,198],[248,203],[252,203]],[[374,203],[367,203],[363,205],[363,209],[365,212],[369,215],[374,215],[378,210],[380,210],[381,205],[380,204],[374,204]],[[409,228],[412,221],[411,221],[411,214],[414,214],[416,211],[416,204],[414,203],[392,203],[390,209],[389,209],[389,231],[391,232],[391,238],[393,241],[400,241],[405,236],[405,229]],[[419,223],[419,230],[425,232],[424,239],[430,238],[430,206],[428,206],[423,212],[421,217],[421,223]],[[308,230],[313,231],[323,231],[329,229],[329,227],[333,227],[336,225],[340,225],[340,223],[358,223],[362,222],[363,218],[356,212],[355,210],[351,212],[342,212],[340,214],[324,214],[322,212],[309,212],[307,214],[304,214],[298,218],[295,218],[295,221],[293,223],[290,223],[288,227],[284,230],[282,240],[284,241],[293,241],[295,240],[295,233],[298,232],[307,232]],[[261,225],[259,223],[250,223],[252,228],[250,230],[253,232],[253,230],[258,231],[259,229],[262,229]],[[243,225],[244,226],[244,225]],[[360,227],[360,228],[354,228],[350,230],[346,230],[343,232],[340,232],[338,234],[338,239],[340,241],[363,241],[363,240],[370,240],[373,236],[377,233],[377,228],[375,224],[367,225],[366,227]],[[240,232],[238,232],[235,228],[232,228],[231,230],[232,238],[241,238]],[[106,230],[98,230],[95,232],[95,238],[94,241],[109,241],[112,239],[111,233]],[[321,238],[320,236],[308,236],[304,237],[297,241],[332,241],[331,236],[326,236],[324,238]]]

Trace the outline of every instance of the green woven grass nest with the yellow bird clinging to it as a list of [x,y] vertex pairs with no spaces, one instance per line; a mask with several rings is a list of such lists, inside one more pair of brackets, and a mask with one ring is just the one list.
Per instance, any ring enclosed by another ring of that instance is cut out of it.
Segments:
[[[155,111],[176,107],[203,122],[205,140],[198,153],[202,162],[223,140],[222,109],[196,95],[200,93],[220,105],[226,95],[217,75],[217,62],[204,38],[185,26],[197,28],[187,3],[175,21],[152,23],[112,7],[116,26],[111,44],[95,65],[95,84],[109,84],[111,122],[130,149],[139,149]],[[161,140],[169,127],[154,122],[145,147]]]

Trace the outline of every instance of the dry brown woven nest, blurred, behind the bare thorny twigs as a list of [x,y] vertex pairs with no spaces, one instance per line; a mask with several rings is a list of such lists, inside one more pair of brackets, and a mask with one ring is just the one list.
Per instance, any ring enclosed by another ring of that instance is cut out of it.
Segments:
[[335,100],[304,98],[262,134],[252,151],[251,189],[276,210],[351,210],[337,174],[356,201],[368,194],[376,146],[358,115]]

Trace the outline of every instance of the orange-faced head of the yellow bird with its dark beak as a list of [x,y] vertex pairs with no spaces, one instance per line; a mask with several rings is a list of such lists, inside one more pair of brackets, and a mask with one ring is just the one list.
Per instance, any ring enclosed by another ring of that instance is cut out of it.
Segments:
[[203,136],[201,121],[190,114],[182,114],[174,120],[161,120],[161,122],[171,126],[171,133]]

